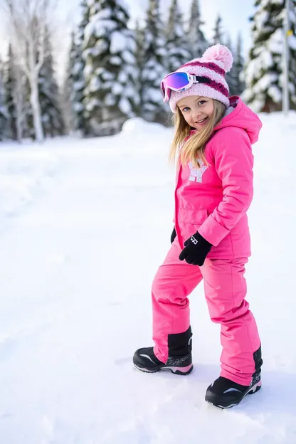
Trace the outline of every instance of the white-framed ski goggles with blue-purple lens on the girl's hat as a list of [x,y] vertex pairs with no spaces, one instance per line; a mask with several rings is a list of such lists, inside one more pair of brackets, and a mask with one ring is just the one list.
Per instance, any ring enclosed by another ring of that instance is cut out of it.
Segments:
[[185,71],[178,71],[166,75],[161,85],[164,102],[169,102],[171,91],[180,92],[188,90],[194,83],[211,83],[211,80],[206,77],[186,73]]

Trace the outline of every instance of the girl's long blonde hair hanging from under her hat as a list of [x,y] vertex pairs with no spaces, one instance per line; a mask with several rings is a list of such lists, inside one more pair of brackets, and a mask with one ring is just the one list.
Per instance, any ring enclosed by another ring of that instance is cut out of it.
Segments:
[[[184,119],[179,107],[176,108],[176,114],[174,115],[175,135],[171,144],[171,151],[169,153],[170,163],[176,162],[177,155],[180,155],[182,165],[185,165],[186,162],[190,161],[195,168],[200,168],[198,159],[200,159],[204,164],[208,164],[204,155],[204,149],[208,139],[210,139],[211,135],[213,134],[213,129],[216,127],[216,125],[218,125],[219,122],[221,122],[226,110],[225,105],[218,100],[213,100],[213,105],[213,114],[208,121],[208,125],[196,132],[185,143],[184,140],[186,137],[189,137],[191,127]],[[180,153],[179,149],[181,149]]]

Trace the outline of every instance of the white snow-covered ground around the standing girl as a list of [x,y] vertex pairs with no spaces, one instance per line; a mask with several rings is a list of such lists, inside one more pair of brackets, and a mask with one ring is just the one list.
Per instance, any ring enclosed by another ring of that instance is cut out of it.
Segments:
[[204,401],[218,326],[191,295],[191,375],[132,366],[151,342],[150,287],[172,229],[171,129],[0,144],[0,443],[296,443],[296,114],[262,115],[248,300],[263,389]]

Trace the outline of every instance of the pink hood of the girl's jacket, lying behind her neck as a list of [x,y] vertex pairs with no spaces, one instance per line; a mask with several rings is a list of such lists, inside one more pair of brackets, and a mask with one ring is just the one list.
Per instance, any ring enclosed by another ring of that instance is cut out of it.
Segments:
[[226,127],[237,127],[245,129],[250,143],[254,144],[258,141],[259,132],[262,127],[262,122],[258,115],[255,114],[250,108],[245,105],[243,100],[238,96],[230,97],[231,106],[226,112],[226,116],[223,117],[219,125],[217,125],[214,131]]

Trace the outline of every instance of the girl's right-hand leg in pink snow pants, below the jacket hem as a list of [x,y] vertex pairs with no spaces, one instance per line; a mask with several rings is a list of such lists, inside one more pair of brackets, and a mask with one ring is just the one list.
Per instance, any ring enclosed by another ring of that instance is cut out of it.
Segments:
[[245,300],[245,263],[206,259],[201,268],[211,320],[221,324],[221,376],[248,386],[260,375],[260,338],[253,314]]

